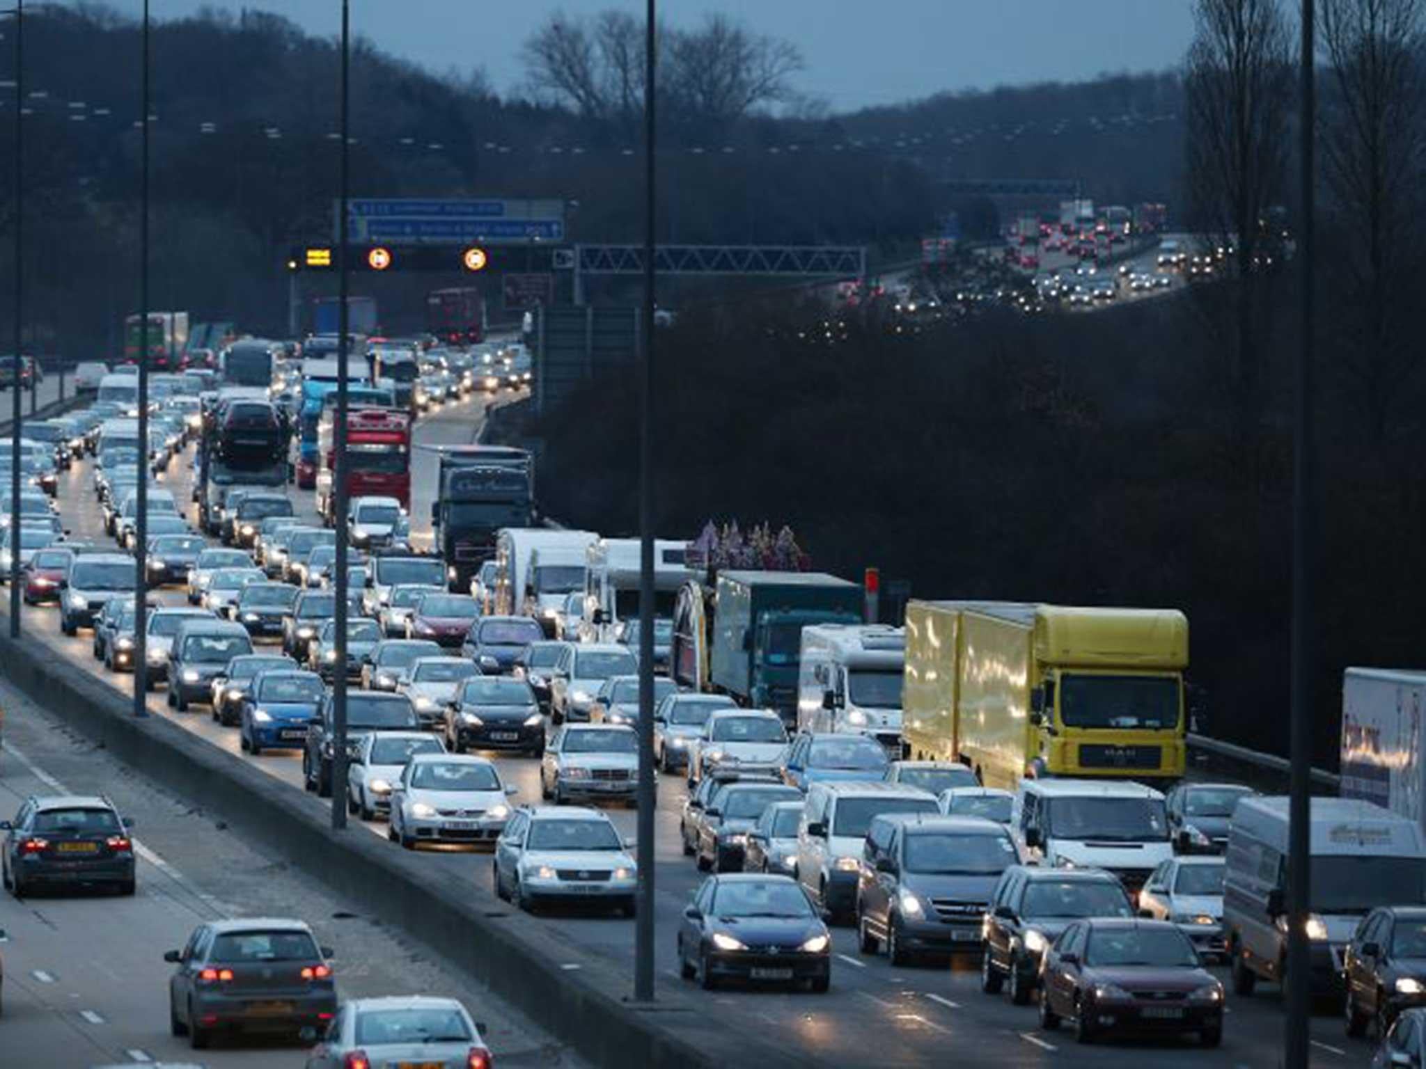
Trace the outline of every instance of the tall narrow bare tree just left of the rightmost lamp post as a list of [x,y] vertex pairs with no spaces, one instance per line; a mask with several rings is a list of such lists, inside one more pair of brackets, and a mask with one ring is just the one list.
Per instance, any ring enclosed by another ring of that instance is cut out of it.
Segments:
[[1188,51],[1188,187],[1194,214],[1232,247],[1239,430],[1263,409],[1255,316],[1265,257],[1262,221],[1281,202],[1292,111],[1292,37],[1279,0],[1196,0]]

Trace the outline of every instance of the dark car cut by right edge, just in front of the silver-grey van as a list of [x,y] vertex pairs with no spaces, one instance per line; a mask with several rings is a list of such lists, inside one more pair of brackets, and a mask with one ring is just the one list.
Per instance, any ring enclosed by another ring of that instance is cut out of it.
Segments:
[[1370,1021],[1385,1036],[1403,1009],[1426,1006],[1426,907],[1369,912],[1342,952],[1342,975],[1349,1036],[1366,1032]]

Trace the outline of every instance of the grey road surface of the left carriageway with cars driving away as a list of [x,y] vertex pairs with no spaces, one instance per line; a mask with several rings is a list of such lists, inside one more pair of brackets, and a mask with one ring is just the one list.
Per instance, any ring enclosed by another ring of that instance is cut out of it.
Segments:
[[[324,885],[288,869],[141,773],[74,737],[11,687],[0,812],[21,797],[104,792],[135,824],[137,892],[51,892],[0,897],[0,926],[10,941],[0,1065],[93,1066],[107,1062],[193,1060],[187,1040],[168,1031],[167,949],[193,928],[224,916],[299,916],[332,959],[342,998],[451,993],[489,1023],[486,1042],[502,1065],[578,1065],[498,992],[409,945],[379,918],[362,918]],[[289,1038],[220,1040],[202,1060],[217,1068],[299,1063]]]

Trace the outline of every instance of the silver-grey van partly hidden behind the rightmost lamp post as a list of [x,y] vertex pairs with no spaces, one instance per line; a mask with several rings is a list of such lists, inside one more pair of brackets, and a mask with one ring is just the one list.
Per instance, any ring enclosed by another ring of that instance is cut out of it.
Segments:
[[[1359,798],[1313,798],[1310,983],[1342,992],[1342,948],[1379,905],[1426,901],[1426,840],[1416,821]],[[1282,982],[1288,964],[1288,798],[1243,798],[1228,827],[1224,938],[1233,992]]]

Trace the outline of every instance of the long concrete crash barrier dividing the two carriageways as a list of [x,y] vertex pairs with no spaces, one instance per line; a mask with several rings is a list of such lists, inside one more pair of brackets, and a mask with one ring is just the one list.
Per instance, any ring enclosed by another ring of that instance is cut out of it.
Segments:
[[[0,627],[0,674],[37,704],[382,924],[489,983],[592,1063],[712,1068],[726,1066],[730,1056],[754,1065],[817,1062],[811,1052],[799,1056],[737,1033],[677,992],[665,992],[652,1006],[625,1001],[633,988],[629,965],[590,955],[558,929],[525,924],[486,887],[434,879],[418,855],[392,849],[359,827],[334,832],[327,811],[302,791],[234,760],[167,717],[135,718],[127,694],[76,671],[43,636],[17,641]],[[656,962],[672,958],[672,946],[656,948]],[[562,968],[568,964],[579,968]]]

